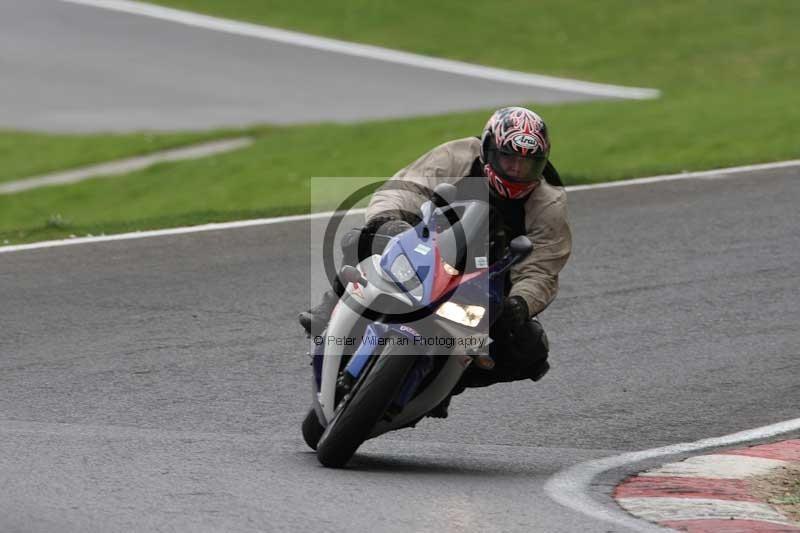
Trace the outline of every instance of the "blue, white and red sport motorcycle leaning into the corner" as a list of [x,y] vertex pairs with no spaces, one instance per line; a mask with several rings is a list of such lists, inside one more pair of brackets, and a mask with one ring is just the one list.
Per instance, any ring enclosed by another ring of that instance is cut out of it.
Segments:
[[419,224],[339,272],[347,286],[314,339],[313,406],[302,424],[324,466],[342,467],[364,441],[413,427],[470,365],[494,364],[489,328],[503,279],[533,245],[516,237],[490,263],[491,207],[456,194],[440,184]]

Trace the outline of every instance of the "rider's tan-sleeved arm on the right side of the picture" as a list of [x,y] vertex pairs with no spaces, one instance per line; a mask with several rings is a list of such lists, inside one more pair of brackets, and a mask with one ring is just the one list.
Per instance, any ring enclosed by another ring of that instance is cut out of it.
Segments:
[[[543,187],[547,187],[543,185]],[[533,252],[511,269],[510,295],[519,295],[528,304],[531,316],[542,312],[558,293],[558,274],[572,250],[572,234],[567,222],[566,193],[561,188],[541,191],[544,205],[528,210],[526,226]],[[538,191],[537,191],[538,192]],[[541,202],[540,202],[541,203]]]

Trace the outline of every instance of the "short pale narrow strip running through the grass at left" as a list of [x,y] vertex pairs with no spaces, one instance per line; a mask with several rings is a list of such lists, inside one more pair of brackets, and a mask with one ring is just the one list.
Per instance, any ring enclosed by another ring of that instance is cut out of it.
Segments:
[[232,152],[234,150],[246,148],[252,145],[253,142],[253,139],[249,137],[211,141],[181,148],[161,150],[143,156],[129,157],[117,161],[101,163],[99,165],[56,172],[44,176],[9,181],[0,183],[0,194],[15,194],[31,189],[38,189],[39,187],[49,187],[51,185],[67,185],[98,177],[107,178],[120,176],[137,170],[143,170],[157,163],[199,159],[201,157]]

